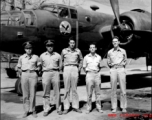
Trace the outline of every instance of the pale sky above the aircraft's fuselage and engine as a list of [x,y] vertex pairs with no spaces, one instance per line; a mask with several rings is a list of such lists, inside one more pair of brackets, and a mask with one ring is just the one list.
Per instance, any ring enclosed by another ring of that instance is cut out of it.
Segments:
[[[15,0],[15,5],[21,7],[19,2],[20,0]],[[34,5],[39,5],[40,2],[45,1],[44,3],[61,3],[61,4],[69,4],[70,5],[79,5],[85,9],[90,9],[90,5],[97,5],[100,9],[99,12],[106,12],[111,14],[111,6],[109,0],[27,0],[29,3]],[[8,6],[9,7],[9,6]],[[8,9],[7,7],[7,9]],[[32,5],[27,5],[27,9],[32,8]],[[144,9],[147,11],[151,11],[151,0],[119,0],[119,8],[120,13],[124,11],[128,11],[131,9]]]

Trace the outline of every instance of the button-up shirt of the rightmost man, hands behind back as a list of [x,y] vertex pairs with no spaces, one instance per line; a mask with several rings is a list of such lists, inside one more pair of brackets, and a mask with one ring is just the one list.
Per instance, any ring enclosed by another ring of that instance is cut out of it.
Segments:
[[125,67],[127,64],[126,51],[120,47],[117,50],[114,50],[114,48],[112,48],[108,51],[107,62],[110,68],[114,66]]

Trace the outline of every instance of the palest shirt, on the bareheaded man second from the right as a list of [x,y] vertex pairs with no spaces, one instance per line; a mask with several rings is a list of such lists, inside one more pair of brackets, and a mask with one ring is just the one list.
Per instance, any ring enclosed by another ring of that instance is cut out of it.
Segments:
[[87,54],[83,60],[83,68],[87,72],[98,72],[101,68],[101,60],[102,58],[98,54],[95,54],[95,56]]

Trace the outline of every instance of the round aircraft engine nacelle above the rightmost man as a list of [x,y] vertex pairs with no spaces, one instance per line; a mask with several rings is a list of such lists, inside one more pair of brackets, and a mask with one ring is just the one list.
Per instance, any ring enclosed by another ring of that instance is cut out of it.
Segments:
[[[127,45],[140,32],[151,31],[151,14],[141,9],[134,9],[120,15],[121,25],[114,20],[111,33],[119,36],[121,45]],[[136,34],[137,33],[137,34]]]

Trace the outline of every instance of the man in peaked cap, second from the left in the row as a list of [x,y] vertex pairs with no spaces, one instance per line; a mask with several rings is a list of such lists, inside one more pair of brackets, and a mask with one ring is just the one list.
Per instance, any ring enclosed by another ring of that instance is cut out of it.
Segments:
[[61,98],[60,98],[60,73],[61,70],[61,56],[54,52],[53,40],[47,40],[45,42],[47,51],[40,56],[40,62],[42,65],[42,84],[43,84],[43,116],[47,116],[50,111],[50,87],[53,85],[54,97],[56,101],[56,109],[59,115],[61,111]]

